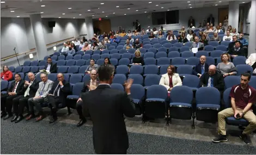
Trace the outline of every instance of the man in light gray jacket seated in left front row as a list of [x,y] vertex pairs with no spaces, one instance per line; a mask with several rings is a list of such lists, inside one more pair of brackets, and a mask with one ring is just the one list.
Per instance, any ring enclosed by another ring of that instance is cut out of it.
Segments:
[[35,97],[28,99],[30,115],[27,117],[27,121],[35,117],[34,106],[39,111],[39,117],[37,117],[35,121],[41,121],[45,117],[41,103],[47,102],[47,95],[52,89],[53,82],[48,79],[47,74],[44,72],[41,73],[40,77],[42,82],[39,83],[39,88],[35,93]]

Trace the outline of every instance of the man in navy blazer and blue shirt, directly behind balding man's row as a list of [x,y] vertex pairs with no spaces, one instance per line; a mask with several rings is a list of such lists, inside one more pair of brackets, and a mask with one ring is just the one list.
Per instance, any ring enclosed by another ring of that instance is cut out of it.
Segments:
[[200,57],[200,63],[194,67],[193,75],[198,76],[199,78],[203,75],[203,73],[209,71],[209,65],[205,63],[206,57],[202,55]]

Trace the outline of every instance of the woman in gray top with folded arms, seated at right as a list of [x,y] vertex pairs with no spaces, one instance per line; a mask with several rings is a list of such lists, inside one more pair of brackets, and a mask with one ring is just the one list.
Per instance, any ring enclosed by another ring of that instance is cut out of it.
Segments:
[[230,55],[227,53],[223,53],[221,55],[221,63],[218,63],[217,65],[217,70],[222,73],[223,77],[233,76],[237,73],[235,65],[229,62],[229,60]]

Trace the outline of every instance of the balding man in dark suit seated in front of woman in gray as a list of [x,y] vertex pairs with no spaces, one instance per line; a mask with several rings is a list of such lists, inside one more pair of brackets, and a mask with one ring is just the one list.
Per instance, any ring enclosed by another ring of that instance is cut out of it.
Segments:
[[200,77],[200,86],[211,86],[218,89],[221,94],[224,90],[224,78],[221,73],[218,73],[216,71],[215,65],[209,66],[209,71],[203,73],[203,75]]

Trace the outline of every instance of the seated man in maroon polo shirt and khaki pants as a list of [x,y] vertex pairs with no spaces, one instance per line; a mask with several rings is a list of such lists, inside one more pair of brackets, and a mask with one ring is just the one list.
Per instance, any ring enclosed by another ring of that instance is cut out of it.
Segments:
[[[218,113],[218,133],[219,137],[213,139],[214,142],[228,141],[225,131],[225,118],[234,116],[235,119],[246,119],[249,125],[240,134],[240,138],[243,143],[249,145],[251,141],[248,139],[248,135],[256,129],[256,116],[252,111],[252,104],[256,103],[256,90],[249,86],[249,80],[251,79],[250,73],[242,73],[239,85],[234,85],[231,88],[229,97],[231,97],[231,107]],[[236,115],[239,114],[240,116]]]

